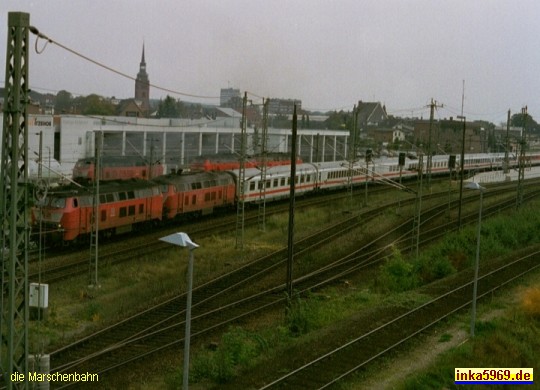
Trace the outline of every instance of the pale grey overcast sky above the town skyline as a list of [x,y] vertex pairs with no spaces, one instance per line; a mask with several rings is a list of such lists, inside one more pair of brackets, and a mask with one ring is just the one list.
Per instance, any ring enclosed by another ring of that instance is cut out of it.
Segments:
[[[468,119],[499,124],[525,105],[540,119],[538,0],[2,0],[0,11],[0,85],[7,13],[24,11],[54,41],[133,77],[144,41],[151,84],[186,94],[230,86],[325,111],[380,101],[424,118],[433,98],[445,118],[460,114],[465,80]],[[37,54],[35,41],[34,89],[134,95],[132,80],[56,45]]]

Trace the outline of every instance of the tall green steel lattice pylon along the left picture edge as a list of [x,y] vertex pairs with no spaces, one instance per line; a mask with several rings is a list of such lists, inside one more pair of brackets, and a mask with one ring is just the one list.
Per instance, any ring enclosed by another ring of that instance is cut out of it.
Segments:
[[[28,376],[28,32],[30,15],[10,12],[6,55],[0,189],[2,321],[0,356],[5,385],[26,388]],[[7,295],[6,295],[7,294]],[[12,373],[25,381],[13,382]]]

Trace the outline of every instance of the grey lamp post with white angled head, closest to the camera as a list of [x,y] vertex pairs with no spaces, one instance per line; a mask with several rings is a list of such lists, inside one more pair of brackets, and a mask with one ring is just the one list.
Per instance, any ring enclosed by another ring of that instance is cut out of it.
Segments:
[[187,276],[187,303],[186,303],[186,332],[184,336],[184,375],[182,389],[189,387],[189,343],[191,333],[191,292],[193,290],[193,251],[199,247],[186,233],[174,233],[160,238],[160,241],[189,249],[188,276]]

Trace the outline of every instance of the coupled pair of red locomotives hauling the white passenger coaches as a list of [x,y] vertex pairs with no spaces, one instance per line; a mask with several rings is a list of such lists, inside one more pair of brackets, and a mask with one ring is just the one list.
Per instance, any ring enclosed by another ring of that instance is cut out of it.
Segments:
[[[160,220],[211,214],[235,204],[236,185],[228,172],[171,174],[155,180],[105,182],[100,186],[99,232],[112,236]],[[47,241],[87,239],[92,229],[90,187],[59,187],[34,208]]]

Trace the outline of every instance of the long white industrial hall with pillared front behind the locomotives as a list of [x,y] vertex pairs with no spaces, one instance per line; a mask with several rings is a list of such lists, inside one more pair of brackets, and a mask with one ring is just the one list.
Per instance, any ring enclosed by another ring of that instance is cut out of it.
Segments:
[[[102,131],[103,155],[145,156],[169,172],[200,155],[238,154],[240,119],[240,114],[215,120],[30,115],[29,156],[37,160],[41,132],[43,165],[58,161],[69,176],[77,160],[94,155],[95,133]],[[260,129],[248,128],[247,133],[247,153],[260,152]],[[298,155],[305,162],[343,160],[348,136],[347,131],[298,130]],[[290,146],[291,129],[268,130],[268,152],[287,153]]]

